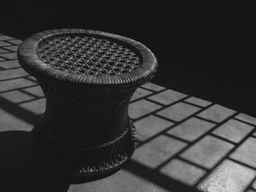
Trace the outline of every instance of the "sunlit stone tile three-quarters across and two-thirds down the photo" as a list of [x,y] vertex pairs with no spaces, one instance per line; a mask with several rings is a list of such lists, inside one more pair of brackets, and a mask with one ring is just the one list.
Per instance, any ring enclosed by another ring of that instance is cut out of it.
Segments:
[[189,118],[189,120],[184,121],[184,123],[171,128],[167,133],[192,142],[214,126],[214,123],[209,123],[205,120]]

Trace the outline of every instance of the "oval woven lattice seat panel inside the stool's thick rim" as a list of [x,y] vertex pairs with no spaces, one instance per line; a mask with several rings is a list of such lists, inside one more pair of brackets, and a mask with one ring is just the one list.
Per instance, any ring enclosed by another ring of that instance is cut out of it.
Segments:
[[61,71],[96,76],[131,72],[141,64],[139,56],[128,47],[82,35],[43,39],[37,55]]

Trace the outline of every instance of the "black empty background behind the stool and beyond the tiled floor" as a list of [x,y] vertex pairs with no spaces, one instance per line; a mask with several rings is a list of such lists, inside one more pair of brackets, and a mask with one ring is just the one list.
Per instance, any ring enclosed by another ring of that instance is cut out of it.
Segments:
[[152,82],[256,117],[253,22],[240,5],[17,0],[0,16],[0,33],[18,39],[88,28],[138,40],[158,59]]

